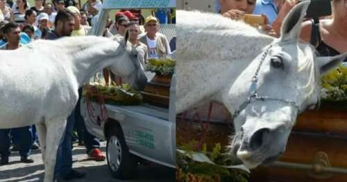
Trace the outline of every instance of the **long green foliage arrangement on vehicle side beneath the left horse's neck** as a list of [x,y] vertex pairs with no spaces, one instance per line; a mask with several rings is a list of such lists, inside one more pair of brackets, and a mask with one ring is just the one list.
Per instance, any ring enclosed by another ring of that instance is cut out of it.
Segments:
[[93,82],[83,87],[83,96],[86,100],[107,104],[137,105],[142,102],[139,91],[135,91],[128,84],[108,86]]

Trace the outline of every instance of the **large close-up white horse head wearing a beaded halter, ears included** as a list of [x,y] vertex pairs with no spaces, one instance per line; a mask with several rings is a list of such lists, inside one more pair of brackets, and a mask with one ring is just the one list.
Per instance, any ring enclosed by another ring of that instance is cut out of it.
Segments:
[[347,56],[319,57],[314,47],[298,40],[309,3],[289,12],[281,37],[264,48],[232,88],[246,100],[235,108],[231,148],[247,167],[275,161],[285,152],[298,114],[319,103],[321,75]]

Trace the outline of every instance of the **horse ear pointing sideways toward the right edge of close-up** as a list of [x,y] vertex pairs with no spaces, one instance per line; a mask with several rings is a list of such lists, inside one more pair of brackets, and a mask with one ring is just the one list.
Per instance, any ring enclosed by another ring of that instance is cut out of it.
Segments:
[[319,66],[319,72],[321,75],[328,73],[331,69],[336,68],[347,57],[347,52],[341,55],[316,57],[317,66]]

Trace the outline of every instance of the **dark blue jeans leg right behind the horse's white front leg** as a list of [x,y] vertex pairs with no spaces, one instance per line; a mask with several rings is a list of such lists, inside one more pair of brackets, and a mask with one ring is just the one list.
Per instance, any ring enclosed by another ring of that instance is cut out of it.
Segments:
[[55,178],[65,176],[71,171],[72,168],[72,131],[74,129],[75,111],[72,111],[67,118],[67,126],[65,132],[60,140],[58,147],[56,167],[54,169]]

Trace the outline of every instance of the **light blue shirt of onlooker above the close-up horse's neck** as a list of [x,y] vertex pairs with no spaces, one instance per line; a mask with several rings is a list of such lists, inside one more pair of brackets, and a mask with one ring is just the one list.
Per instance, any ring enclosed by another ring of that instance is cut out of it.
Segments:
[[257,0],[253,14],[266,15],[267,19],[269,19],[269,25],[272,25],[273,21],[277,18],[278,10],[273,0]]

